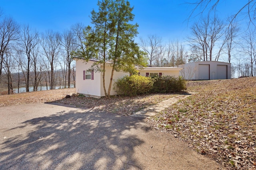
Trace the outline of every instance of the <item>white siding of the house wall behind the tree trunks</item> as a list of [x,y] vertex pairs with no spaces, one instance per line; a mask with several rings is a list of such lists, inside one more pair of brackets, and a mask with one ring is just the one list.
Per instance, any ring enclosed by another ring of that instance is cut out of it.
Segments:
[[[110,77],[111,77],[111,71],[112,71],[112,67],[110,66],[105,66],[106,67],[106,72],[105,72],[105,87],[106,87],[106,92],[108,93],[108,87],[109,87],[109,84],[110,84]],[[110,90],[110,95],[113,96],[113,95],[116,95],[116,91],[113,89],[114,86],[115,86],[115,82],[118,78],[122,78],[126,75],[129,76],[130,73],[126,73],[126,72],[116,72],[114,71],[114,74],[113,74],[113,80],[112,80],[112,85],[111,85],[111,90]],[[101,73],[101,82],[103,82],[103,78],[102,78],[102,73]],[[100,96],[103,97],[105,96],[105,93],[104,93],[104,88],[103,88],[103,84],[100,86]]]

